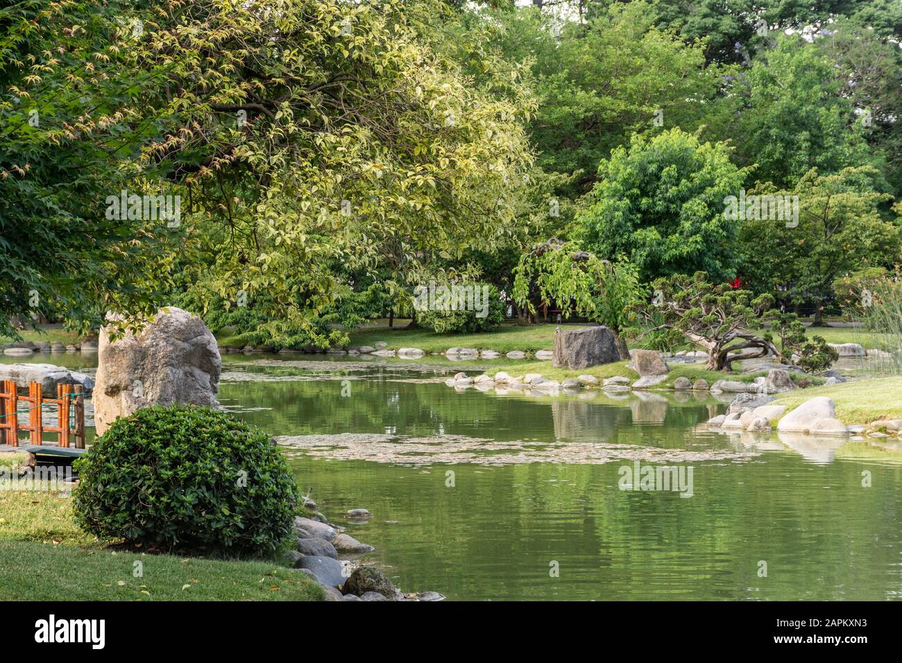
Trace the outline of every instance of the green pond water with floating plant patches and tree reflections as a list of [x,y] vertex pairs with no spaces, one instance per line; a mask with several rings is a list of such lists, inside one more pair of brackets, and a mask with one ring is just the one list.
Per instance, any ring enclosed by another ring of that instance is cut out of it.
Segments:
[[[709,432],[699,424],[726,405],[691,394],[456,391],[444,379],[461,364],[430,360],[226,355],[220,387],[227,410],[280,437],[305,492],[375,546],[366,559],[403,590],[474,600],[902,596],[898,442]],[[621,489],[637,462],[684,478],[691,467],[691,491]],[[347,522],[354,508],[373,519]]]

